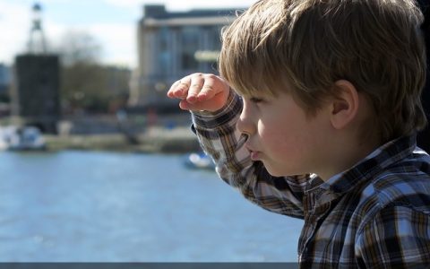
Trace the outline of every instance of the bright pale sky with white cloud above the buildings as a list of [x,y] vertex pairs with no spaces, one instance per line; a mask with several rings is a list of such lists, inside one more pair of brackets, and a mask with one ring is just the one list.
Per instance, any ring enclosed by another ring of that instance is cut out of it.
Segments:
[[[169,11],[193,8],[248,7],[255,0],[40,0],[43,28],[51,48],[70,31],[90,34],[106,64],[135,67],[136,27],[143,4],[166,4]],[[33,0],[0,0],[0,63],[12,64],[26,49]]]

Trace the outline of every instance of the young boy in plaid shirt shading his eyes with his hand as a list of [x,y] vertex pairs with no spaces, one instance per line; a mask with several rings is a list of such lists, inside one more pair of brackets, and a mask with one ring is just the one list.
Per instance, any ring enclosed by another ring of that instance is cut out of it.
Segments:
[[305,219],[303,268],[430,266],[421,22],[413,0],[258,1],[223,31],[221,76],[168,91],[220,178]]

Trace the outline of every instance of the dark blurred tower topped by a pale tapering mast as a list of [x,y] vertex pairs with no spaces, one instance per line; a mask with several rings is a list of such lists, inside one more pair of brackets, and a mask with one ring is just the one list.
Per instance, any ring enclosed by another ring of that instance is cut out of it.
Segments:
[[59,57],[47,51],[39,3],[32,6],[28,51],[15,57],[12,114],[27,126],[56,134],[61,117]]

